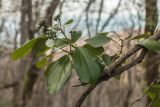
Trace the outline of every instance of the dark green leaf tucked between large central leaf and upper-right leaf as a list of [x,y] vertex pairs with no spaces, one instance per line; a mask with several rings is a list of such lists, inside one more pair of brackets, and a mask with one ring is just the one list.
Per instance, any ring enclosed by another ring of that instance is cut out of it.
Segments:
[[104,52],[104,48],[102,46],[94,48],[90,46],[89,44],[85,44],[83,47],[91,51],[94,55],[100,55]]

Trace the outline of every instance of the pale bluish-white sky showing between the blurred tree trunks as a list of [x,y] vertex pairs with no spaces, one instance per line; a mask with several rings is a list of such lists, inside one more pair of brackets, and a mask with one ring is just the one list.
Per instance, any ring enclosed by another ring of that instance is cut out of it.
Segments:
[[[7,1],[7,2],[6,2]],[[13,39],[15,36],[15,31],[16,29],[19,28],[19,24],[20,24],[20,12],[12,12],[14,11],[13,8],[16,7],[20,7],[20,3],[21,0],[17,0],[18,2],[14,2],[14,0],[2,0],[3,2],[3,10],[0,9],[0,19],[5,19],[7,20],[7,22],[5,23],[5,28],[6,30],[8,30],[8,32],[10,33],[11,36],[10,38]],[[34,1],[34,0],[33,0]],[[49,4],[48,0],[46,2],[46,5]],[[86,7],[86,3],[87,0],[79,0],[80,3],[76,3],[73,2],[73,0],[66,0],[67,2],[64,3],[64,8],[62,8],[62,21],[65,22],[66,20],[72,18],[74,19],[75,23],[77,23],[79,16],[82,14],[82,12],[84,11],[84,8]],[[76,0],[75,0],[76,1]],[[104,0],[104,11],[102,13],[102,18],[101,18],[101,23],[100,25],[102,25],[105,20],[108,18],[109,14],[116,8],[118,1],[119,0]],[[106,2],[107,1],[107,2]],[[118,12],[118,14],[113,17],[113,19],[111,20],[111,22],[109,23],[109,25],[105,28],[104,31],[122,31],[123,29],[126,28],[130,28],[132,25],[131,19],[133,20],[133,22],[137,23],[137,26],[135,27],[135,29],[137,29],[138,26],[138,19],[137,19],[137,11],[136,11],[136,7],[134,7],[132,5],[131,2],[132,0],[122,0],[122,4],[124,6],[122,6]],[[140,3],[141,0],[134,0],[137,3]],[[143,1],[143,0],[142,0]],[[15,3],[13,5],[13,3]],[[91,11],[98,11],[99,9],[99,3],[100,0],[97,0],[96,3],[94,3],[94,5],[91,6]],[[160,4],[160,0],[158,0],[158,4]],[[124,8],[125,5],[127,5],[127,9]],[[158,6],[160,7],[160,6]],[[45,6],[41,8],[42,9],[42,13],[45,9]],[[129,11],[128,11],[129,10]],[[139,10],[141,11],[140,15],[142,18],[144,18],[144,10]],[[56,14],[58,14],[58,9]],[[97,12],[92,12],[92,14],[89,14],[89,21],[93,23],[92,26],[96,25],[96,20],[97,20]],[[1,23],[2,20],[0,20]],[[121,26],[123,25],[123,27]],[[143,27],[144,26],[144,22],[141,21],[140,25]],[[74,25],[73,25],[74,26]],[[72,26],[70,27],[72,28]],[[83,30],[85,33],[87,33],[86,28],[85,28],[85,14],[82,14],[82,20],[80,21],[79,27],[77,28],[78,30]],[[1,33],[0,34],[0,41],[6,40],[6,34],[5,33]],[[20,37],[20,36],[19,36]]]

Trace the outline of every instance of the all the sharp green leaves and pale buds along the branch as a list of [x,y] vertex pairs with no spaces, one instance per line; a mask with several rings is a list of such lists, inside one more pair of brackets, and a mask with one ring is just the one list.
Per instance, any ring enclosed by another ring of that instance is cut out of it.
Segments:
[[[56,23],[49,27],[45,34],[26,42],[12,53],[12,58],[17,60],[30,52],[35,54],[37,68],[47,66],[45,71],[47,89],[52,94],[59,91],[69,81],[73,69],[82,83],[95,84],[105,67],[112,64],[122,53],[110,56],[104,52],[103,45],[110,41],[118,42],[108,37],[109,32],[103,32],[86,39],[83,46],[78,46],[77,41],[81,38],[82,31],[71,30],[69,34],[65,32],[65,27],[72,24],[73,19],[64,24],[61,23],[60,16],[56,16],[54,20]],[[149,36],[144,35],[130,40],[145,38],[139,45],[154,52],[160,51],[160,42],[148,39],[146,37]],[[122,39],[121,41],[123,42]],[[123,44],[120,46],[123,48]],[[46,54],[47,51],[50,53]],[[61,54],[61,57],[54,62],[49,62],[55,54]]]

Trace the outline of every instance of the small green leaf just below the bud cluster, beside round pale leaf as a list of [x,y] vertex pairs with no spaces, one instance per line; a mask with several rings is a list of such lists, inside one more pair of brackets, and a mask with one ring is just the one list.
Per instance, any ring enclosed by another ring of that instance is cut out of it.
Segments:
[[57,38],[55,39],[55,43],[54,46],[55,47],[62,47],[62,46],[66,46],[67,44],[69,44],[69,40],[66,38]]

